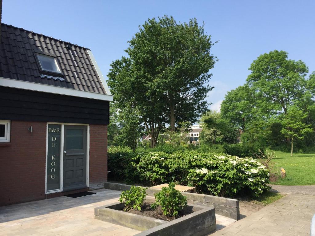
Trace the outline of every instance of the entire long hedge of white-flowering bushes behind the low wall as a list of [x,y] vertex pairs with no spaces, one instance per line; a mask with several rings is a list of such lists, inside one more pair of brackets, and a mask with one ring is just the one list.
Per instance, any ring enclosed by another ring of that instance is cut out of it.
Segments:
[[139,153],[136,157],[120,153],[115,157],[120,164],[116,162],[112,170],[122,173],[127,182],[145,185],[177,182],[196,187],[198,193],[217,196],[258,196],[269,188],[269,171],[251,157],[197,151]]

